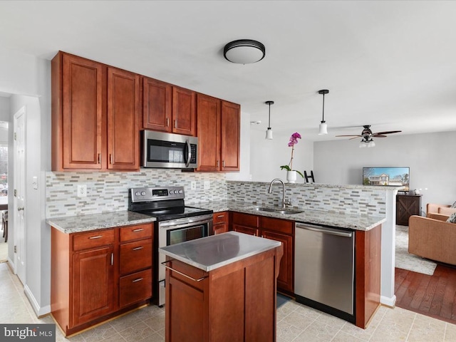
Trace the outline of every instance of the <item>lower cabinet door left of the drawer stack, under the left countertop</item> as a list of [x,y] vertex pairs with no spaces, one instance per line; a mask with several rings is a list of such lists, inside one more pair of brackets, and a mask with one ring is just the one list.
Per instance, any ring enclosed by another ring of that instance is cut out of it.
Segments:
[[73,326],[114,311],[113,253],[109,246],[73,254]]

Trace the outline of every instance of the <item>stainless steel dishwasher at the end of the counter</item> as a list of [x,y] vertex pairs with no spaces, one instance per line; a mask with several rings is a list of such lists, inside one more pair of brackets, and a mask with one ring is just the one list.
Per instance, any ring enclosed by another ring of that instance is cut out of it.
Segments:
[[354,321],[354,232],[296,223],[296,301]]

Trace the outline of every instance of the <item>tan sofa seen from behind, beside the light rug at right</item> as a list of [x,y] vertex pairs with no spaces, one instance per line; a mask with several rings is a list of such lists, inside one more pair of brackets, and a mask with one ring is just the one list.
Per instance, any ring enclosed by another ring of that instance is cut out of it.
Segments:
[[456,223],[449,216],[427,213],[408,219],[408,252],[419,257],[456,265]]

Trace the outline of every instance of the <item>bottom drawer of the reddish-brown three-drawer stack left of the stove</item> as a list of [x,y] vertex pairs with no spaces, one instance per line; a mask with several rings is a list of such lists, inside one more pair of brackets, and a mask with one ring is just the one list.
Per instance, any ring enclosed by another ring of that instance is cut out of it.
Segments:
[[152,269],[120,278],[120,307],[152,297]]

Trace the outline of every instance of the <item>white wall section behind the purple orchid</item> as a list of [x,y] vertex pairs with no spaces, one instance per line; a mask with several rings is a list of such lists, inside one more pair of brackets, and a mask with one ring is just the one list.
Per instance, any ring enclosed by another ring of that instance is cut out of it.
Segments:
[[[274,128],[273,128],[274,131]],[[266,131],[251,129],[250,133],[250,173],[254,182],[271,182],[274,178],[286,180],[286,171],[281,165],[288,165],[291,158],[291,147],[288,147],[291,134],[273,133],[273,140],[266,140]],[[314,143],[305,138],[299,139],[294,146],[293,169],[304,174],[310,172],[314,160]],[[298,175],[298,183],[304,179]]]

